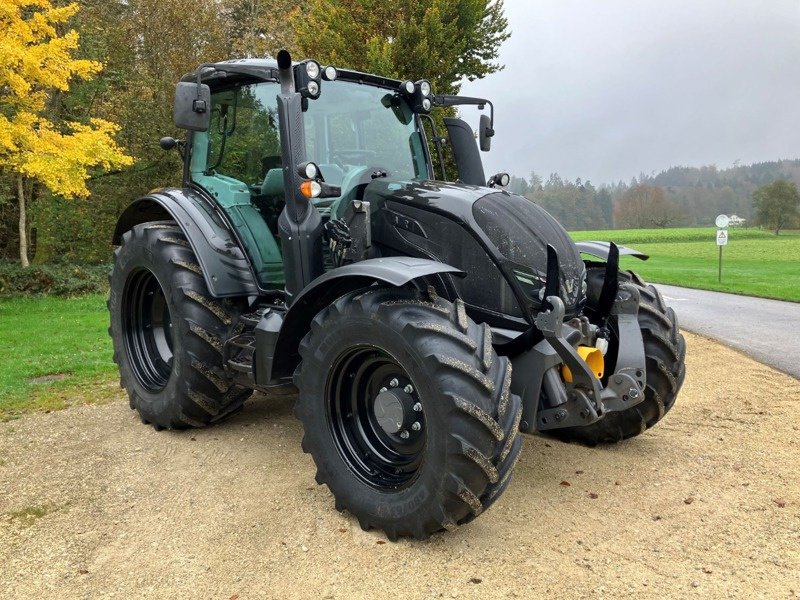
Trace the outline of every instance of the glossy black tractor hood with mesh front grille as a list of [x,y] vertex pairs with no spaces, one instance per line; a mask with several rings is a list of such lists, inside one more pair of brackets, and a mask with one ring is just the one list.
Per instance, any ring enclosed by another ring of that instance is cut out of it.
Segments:
[[[502,306],[492,306],[495,312],[528,319],[540,310],[547,246],[553,246],[560,296],[570,314],[580,311],[586,280],[580,252],[558,221],[527,198],[483,186],[387,179],[372,181],[363,198],[370,202],[375,241],[462,269],[464,285],[487,288],[470,294],[472,304],[478,298],[482,305],[497,304],[492,288],[500,286]],[[494,281],[498,274],[505,282]],[[506,298],[509,292],[513,299]]]

